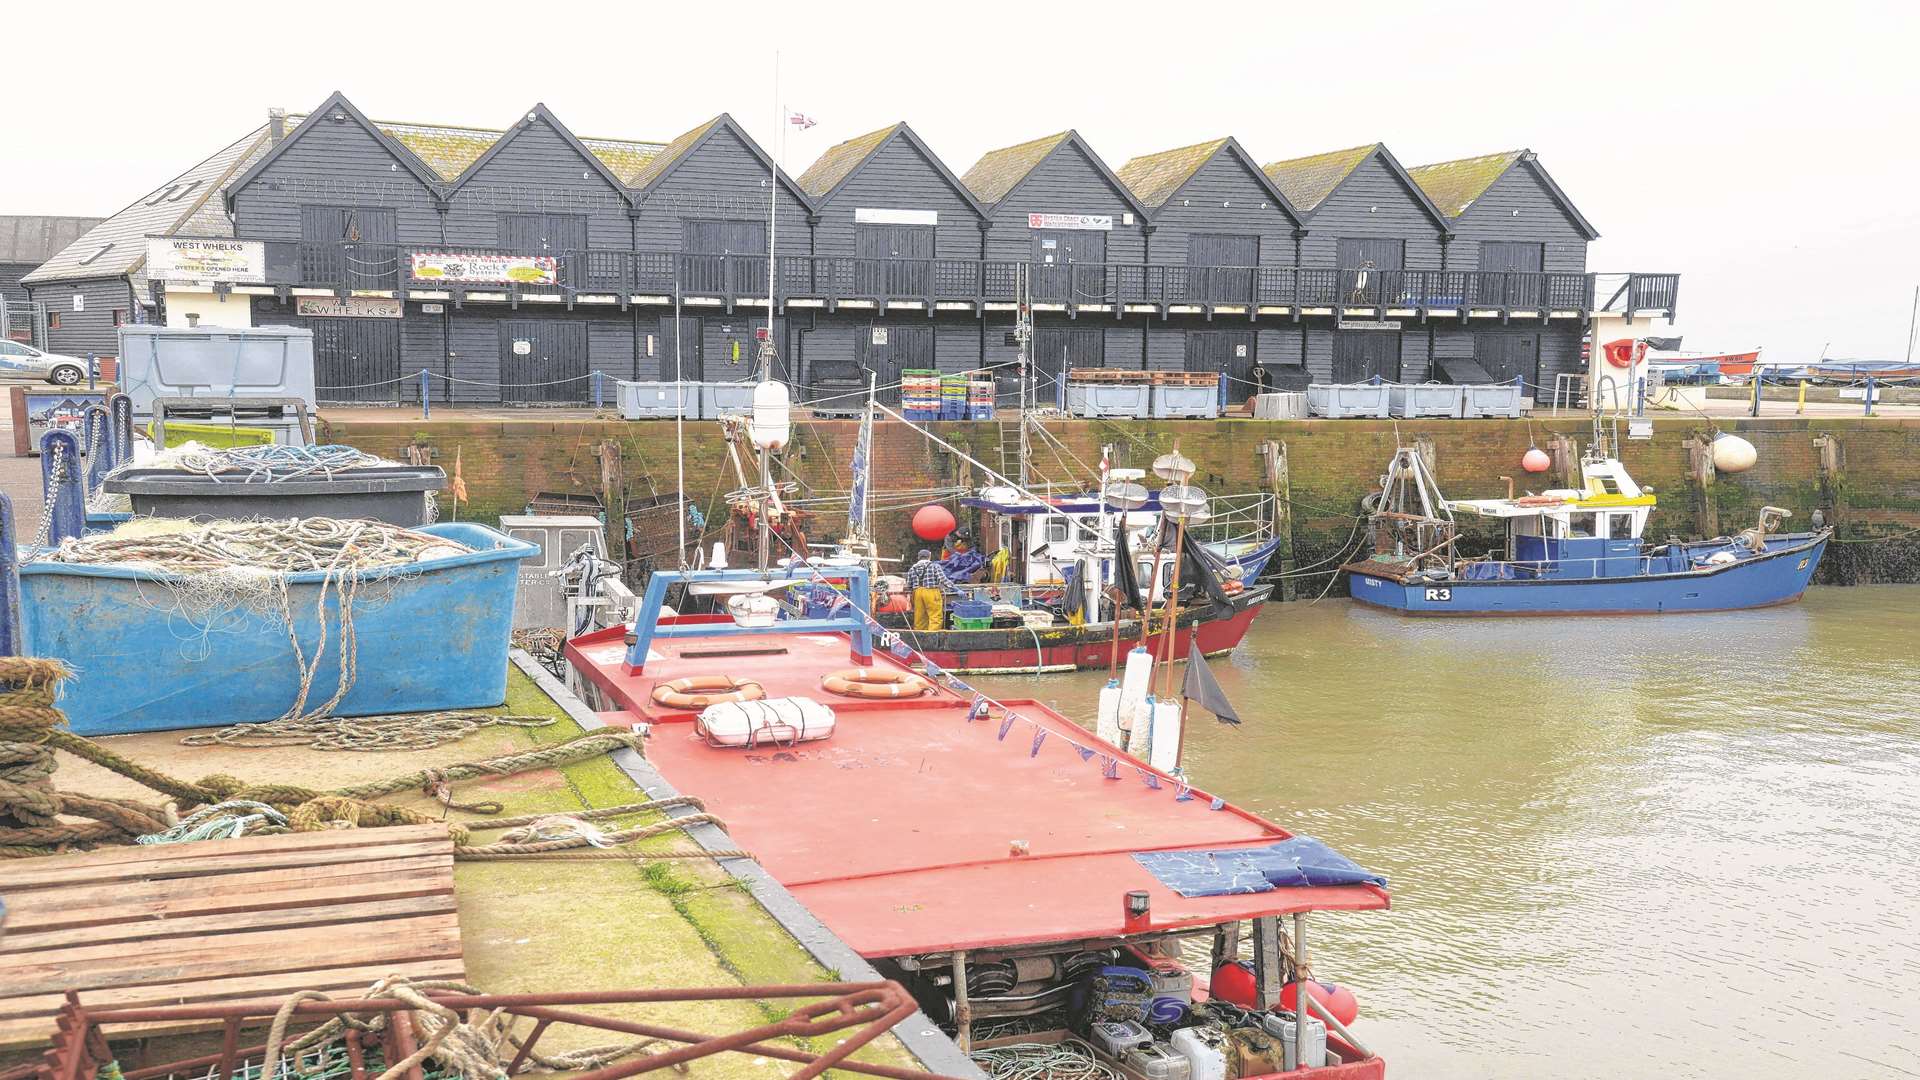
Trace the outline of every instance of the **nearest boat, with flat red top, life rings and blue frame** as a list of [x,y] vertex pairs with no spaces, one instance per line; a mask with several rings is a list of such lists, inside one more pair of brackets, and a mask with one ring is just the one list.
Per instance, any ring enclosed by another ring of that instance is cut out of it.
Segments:
[[672,584],[755,577],[657,573],[632,630],[568,642],[574,682],[962,1049],[1064,1043],[1133,1080],[1386,1074],[1306,951],[1309,913],[1384,909],[1384,878],[977,694],[874,621],[862,567],[814,619],[660,617]]

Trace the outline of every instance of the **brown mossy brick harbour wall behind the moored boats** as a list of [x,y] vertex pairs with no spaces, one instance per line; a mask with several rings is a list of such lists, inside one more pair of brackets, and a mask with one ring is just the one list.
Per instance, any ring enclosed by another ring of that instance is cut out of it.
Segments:
[[[803,421],[787,463],[810,488],[845,490],[856,434],[854,421]],[[1620,457],[1644,486],[1659,496],[1647,532],[1697,538],[1736,532],[1751,525],[1763,505],[1793,511],[1788,528],[1805,528],[1814,509],[1839,528],[1845,542],[1828,550],[1822,584],[1920,582],[1920,421],[1864,417],[1722,419],[1722,430],[1741,434],[1759,450],[1759,463],[1741,475],[1693,480],[1688,444],[1711,438],[1703,421],[1661,417],[1653,438],[1624,440]],[[1284,444],[1292,505],[1292,565],[1311,567],[1334,559],[1350,542],[1359,500],[1379,486],[1379,477],[1398,442],[1428,440],[1442,490],[1450,498],[1505,494],[1498,477],[1513,477],[1521,490],[1561,486],[1557,473],[1526,477],[1519,461],[1528,446],[1551,450],[1555,436],[1572,440],[1571,461],[1588,444],[1590,425],[1580,417],[1530,421],[1052,421],[1046,429],[1064,444],[1056,452],[1035,440],[1035,473],[1066,480],[1073,457],[1094,465],[1102,444],[1114,444],[1116,467],[1146,467],[1179,442],[1194,459],[1194,482],[1215,494],[1260,490],[1265,482],[1261,444]],[[939,434],[970,455],[998,467],[996,423],[945,423]],[[670,494],[674,480],[674,425],[616,419],[445,419],[365,417],[326,419],[324,434],[386,457],[405,457],[407,446],[424,446],[432,461],[453,473],[455,457],[470,503],[461,517],[493,521],[520,513],[538,492],[601,494],[603,442],[620,450],[628,498]],[[1624,425],[1622,425],[1624,434]],[[710,521],[724,519],[726,490],[735,486],[733,467],[718,425],[687,423],[687,496]],[[877,505],[889,490],[979,486],[983,475],[899,423],[876,429],[874,477]],[[895,503],[900,500],[893,500]],[[910,509],[876,515],[876,536],[889,555],[910,553]],[[966,521],[966,517],[962,517]],[[837,536],[837,515],[822,513],[812,538]],[[1469,534],[1463,552],[1498,544],[1494,532]],[[1331,563],[1329,563],[1331,565]],[[1294,592],[1315,596],[1327,577],[1309,575]],[[1334,592],[1342,586],[1334,584]]]

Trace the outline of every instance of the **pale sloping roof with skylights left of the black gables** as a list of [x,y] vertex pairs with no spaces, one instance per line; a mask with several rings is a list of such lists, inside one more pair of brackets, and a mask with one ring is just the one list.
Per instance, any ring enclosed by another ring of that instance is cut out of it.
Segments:
[[[217,211],[219,200],[213,196],[246,161],[259,158],[265,146],[267,125],[261,125],[192,169],[136,198],[113,217],[94,225],[81,238],[40,263],[23,281],[27,284],[46,284],[52,281],[134,275],[146,265],[148,236],[175,236],[184,233],[232,236],[232,223]],[[219,231],[200,229],[209,206],[213,208],[211,217],[217,217],[221,223]]]

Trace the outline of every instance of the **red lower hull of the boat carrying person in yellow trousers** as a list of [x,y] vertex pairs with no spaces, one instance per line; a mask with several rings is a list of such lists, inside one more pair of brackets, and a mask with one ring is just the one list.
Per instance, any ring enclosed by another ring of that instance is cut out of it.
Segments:
[[[1233,651],[1246,636],[1254,617],[1265,605],[1269,590],[1252,588],[1235,598],[1223,611],[1202,607],[1181,613],[1181,625],[1173,634],[1173,657],[1187,659],[1194,638],[1200,651],[1219,655]],[[1004,630],[897,630],[900,640],[924,653],[947,671],[975,675],[995,673],[1052,673],[1104,669],[1114,659],[1114,625],[1091,623],[1085,626],[1048,626],[1029,630],[1025,626]],[[1119,625],[1119,659],[1140,640],[1140,623],[1125,619]],[[1165,634],[1154,634],[1148,646],[1158,655]]]

